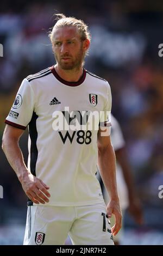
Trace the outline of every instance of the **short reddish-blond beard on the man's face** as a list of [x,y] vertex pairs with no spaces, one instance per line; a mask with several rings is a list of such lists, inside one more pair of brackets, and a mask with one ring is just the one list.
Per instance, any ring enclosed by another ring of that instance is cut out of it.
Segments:
[[[79,69],[81,65],[84,64],[84,52],[82,47],[80,48],[79,52],[76,54],[76,56],[72,57],[70,54],[66,53],[62,55],[60,58],[57,56],[57,54],[54,52],[54,57],[58,65],[63,70],[73,70],[73,69]],[[65,62],[62,58],[70,58],[67,62]]]

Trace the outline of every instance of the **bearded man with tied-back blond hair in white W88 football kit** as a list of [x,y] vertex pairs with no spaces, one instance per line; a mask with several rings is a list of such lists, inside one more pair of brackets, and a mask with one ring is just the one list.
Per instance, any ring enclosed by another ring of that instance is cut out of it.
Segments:
[[[99,118],[98,130],[82,129],[85,120],[88,125],[82,111],[110,113],[110,86],[83,68],[90,45],[85,23],[57,17],[49,34],[57,64],[23,80],[5,121],[3,150],[29,198],[24,245],[64,245],[67,234],[73,245],[112,245],[121,210],[108,114]],[[28,168],[18,147],[27,125]],[[107,208],[96,179],[97,156],[110,192]],[[110,230],[112,214],[116,224]]]

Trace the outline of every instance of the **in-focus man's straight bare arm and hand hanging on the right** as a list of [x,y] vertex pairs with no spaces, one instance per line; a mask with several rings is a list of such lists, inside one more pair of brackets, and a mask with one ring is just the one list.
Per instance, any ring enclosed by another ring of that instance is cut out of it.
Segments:
[[115,215],[115,225],[112,227],[112,234],[116,235],[121,229],[121,209],[116,185],[116,161],[115,153],[110,142],[110,136],[101,136],[101,130],[98,131],[98,165],[102,180],[110,196],[110,202],[107,205],[108,217]]

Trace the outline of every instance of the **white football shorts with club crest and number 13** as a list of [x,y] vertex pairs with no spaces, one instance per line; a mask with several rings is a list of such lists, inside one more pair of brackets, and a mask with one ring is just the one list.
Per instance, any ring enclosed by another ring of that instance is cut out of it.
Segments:
[[24,245],[114,245],[105,204],[28,206]]

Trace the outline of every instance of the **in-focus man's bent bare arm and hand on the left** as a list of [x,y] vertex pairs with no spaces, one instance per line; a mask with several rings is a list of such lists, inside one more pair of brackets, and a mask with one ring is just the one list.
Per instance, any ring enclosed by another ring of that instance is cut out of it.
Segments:
[[22,151],[18,145],[22,134],[23,130],[7,125],[3,134],[2,149],[27,196],[36,204],[45,204],[50,197],[47,191],[49,187],[42,180],[36,178],[26,167]]

